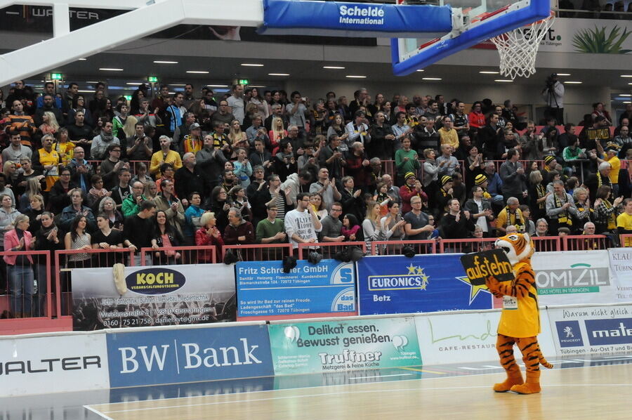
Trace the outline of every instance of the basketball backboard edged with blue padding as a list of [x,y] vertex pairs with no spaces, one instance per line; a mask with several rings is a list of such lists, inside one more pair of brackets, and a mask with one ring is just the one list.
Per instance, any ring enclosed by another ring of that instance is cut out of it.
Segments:
[[[416,0],[412,2],[419,4]],[[397,3],[407,1],[397,0]],[[551,13],[550,0],[436,0],[435,5],[452,7],[452,32],[434,39],[392,39],[395,75],[405,76],[423,69],[481,41],[547,18]]]

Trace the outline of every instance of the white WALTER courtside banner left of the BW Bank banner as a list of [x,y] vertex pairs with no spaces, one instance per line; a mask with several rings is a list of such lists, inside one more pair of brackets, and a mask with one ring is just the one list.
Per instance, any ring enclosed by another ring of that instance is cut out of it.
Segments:
[[105,334],[0,339],[0,395],[110,388]]

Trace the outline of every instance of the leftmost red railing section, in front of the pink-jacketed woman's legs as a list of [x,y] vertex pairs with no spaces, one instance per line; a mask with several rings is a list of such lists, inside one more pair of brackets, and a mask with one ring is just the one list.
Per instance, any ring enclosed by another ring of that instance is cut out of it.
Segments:
[[[0,258],[25,256],[27,263],[7,265],[6,294],[0,296],[0,314],[3,318],[53,317],[53,290],[51,289],[51,253],[48,251],[3,251]],[[32,263],[28,260],[32,258]],[[16,260],[17,262],[17,260]],[[18,269],[25,273],[13,273]],[[9,273],[11,272],[11,275]],[[15,279],[12,277],[16,276]],[[1,334],[1,333],[0,333]]]

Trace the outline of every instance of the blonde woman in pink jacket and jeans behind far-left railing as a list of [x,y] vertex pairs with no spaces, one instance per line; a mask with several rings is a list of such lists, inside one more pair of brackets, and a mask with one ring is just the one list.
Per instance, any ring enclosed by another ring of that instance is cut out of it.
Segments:
[[[29,218],[23,214],[13,222],[15,229],[4,234],[5,251],[32,251],[33,237]],[[6,271],[11,284],[11,310],[16,318],[30,317],[35,291],[33,258],[30,255],[6,255]]]

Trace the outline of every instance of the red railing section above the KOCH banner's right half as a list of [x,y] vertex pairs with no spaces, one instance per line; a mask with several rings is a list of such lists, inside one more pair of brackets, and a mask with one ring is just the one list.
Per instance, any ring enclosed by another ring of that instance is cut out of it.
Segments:
[[140,265],[216,263],[214,245],[195,247],[157,247],[140,249]]

